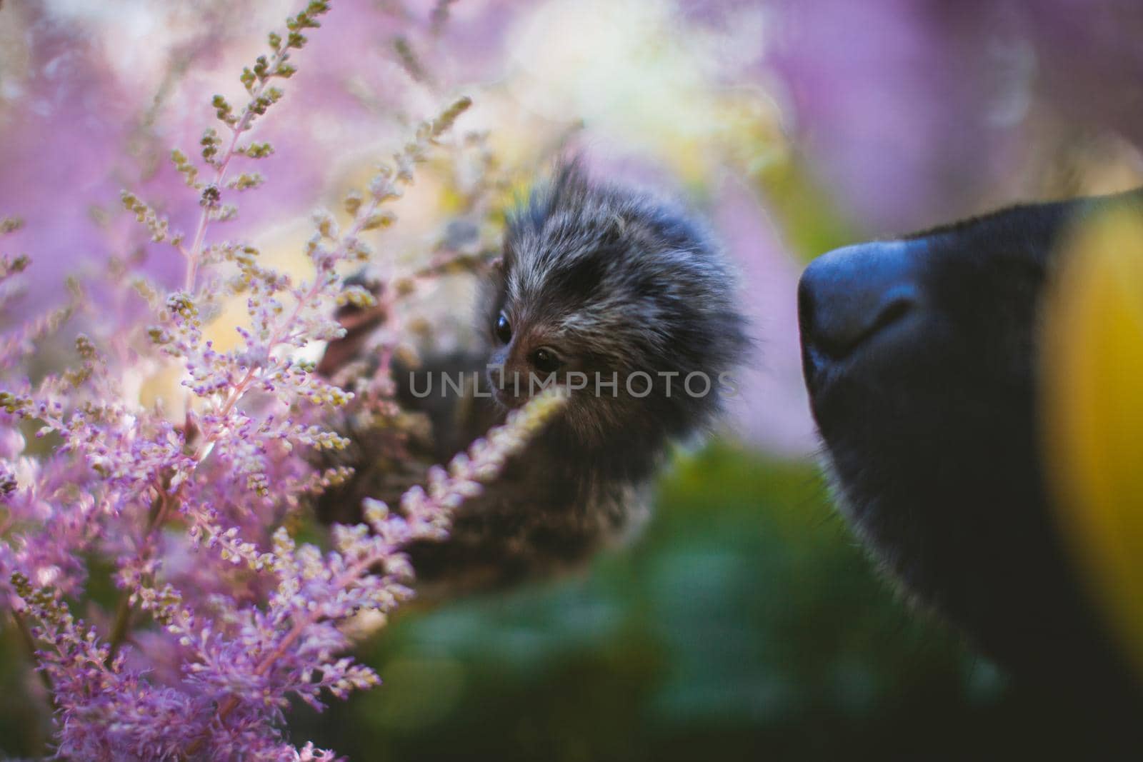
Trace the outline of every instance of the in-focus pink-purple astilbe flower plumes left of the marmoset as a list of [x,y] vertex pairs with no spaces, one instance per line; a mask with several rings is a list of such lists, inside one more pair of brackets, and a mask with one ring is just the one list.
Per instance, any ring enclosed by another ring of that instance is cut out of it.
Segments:
[[[361,234],[393,222],[386,202],[469,104],[457,101],[422,123],[368,191],[346,199],[345,230],[333,215],[315,215],[311,280],[295,283],[264,266],[248,243],[211,241],[211,225],[235,215],[224,201],[262,184],[257,173],[232,177],[231,168],[273,151],[249,139],[251,127],[282,97],[275,83],[295,73],[304,31],[328,10],[314,0],[283,34],[270,35],[269,54],[242,73],[245,105],[214,98],[222,126],[203,134],[201,165],[173,153],[201,206],[190,235],[123,193],[152,241],[185,259],[182,288],[115,273],[151,316],[142,324],[91,316],[90,336],[75,340],[74,368],[34,384],[29,359],[85,310],[80,287],[64,307],[0,342],[0,603],[33,650],[61,757],[333,759],[285,739],[290,700],[320,708],[327,693],[378,682],[347,656],[351,620],[411,595],[400,548],[443,537],[450,510],[494,479],[560,402],[545,394],[514,412],[448,470],[433,468],[427,489],[407,492],[399,512],[368,500],[367,523],[335,526],[330,548],[291,537],[305,497],[347,475],[317,467],[310,454],[344,447],[322,422],[354,394],[322,379],[296,350],[343,334],[336,305],[376,307],[399,296],[346,286],[343,275],[368,260]],[[17,226],[5,220],[0,230]],[[0,262],[0,299],[18,292],[27,264]],[[219,351],[203,329],[235,295],[249,322],[237,348]],[[184,370],[187,396],[177,422],[143,407],[123,383],[171,363]],[[365,390],[382,418],[392,414],[390,387]],[[32,431],[45,438],[35,454],[24,438]],[[96,567],[114,569],[119,601],[107,612],[89,594]],[[78,604],[90,623],[73,613]]]

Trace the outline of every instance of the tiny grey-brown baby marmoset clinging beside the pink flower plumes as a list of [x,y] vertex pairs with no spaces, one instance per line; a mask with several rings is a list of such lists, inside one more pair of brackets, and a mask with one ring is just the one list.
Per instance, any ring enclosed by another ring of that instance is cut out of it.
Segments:
[[[448,539],[407,548],[417,586],[506,585],[629,536],[670,442],[712,422],[748,351],[734,291],[721,252],[679,208],[596,183],[576,162],[533,192],[483,283],[488,345],[394,367],[393,377],[402,407],[432,423],[425,463],[447,459],[551,378],[570,399],[457,510]],[[441,376],[461,374],[478,383],[446,394]],[[374,462],[367,434],[353,439],[355,474],[321,498],[327,519],[351,518],[367,496],[395,505],[422,481],[407,463]]]

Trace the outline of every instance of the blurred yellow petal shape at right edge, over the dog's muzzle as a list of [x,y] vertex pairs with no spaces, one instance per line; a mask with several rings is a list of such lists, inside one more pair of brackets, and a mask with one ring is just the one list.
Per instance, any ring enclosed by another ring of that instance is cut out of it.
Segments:
[[1047,473],[1064,536],[1143,669],[1143,219],[1108,212],[1063,254],[1042,324]]

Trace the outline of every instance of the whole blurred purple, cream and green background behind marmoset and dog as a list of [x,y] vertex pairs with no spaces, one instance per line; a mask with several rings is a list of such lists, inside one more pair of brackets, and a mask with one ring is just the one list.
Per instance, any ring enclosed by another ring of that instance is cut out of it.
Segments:
[[[184,230],[210,96],[287,0],[0,0],[0,215],[32,257],[37,314],[107,263],[182,263],[122,212],[128,187]],[[742,272],[759,354],[726,431],[678,454],[632,547],[574,578],[435,610],[366,647],[385,684],[293,732],[360,760],[978,759],[1048,755],[1066,717],[880,580],[814,465],[794,287],[823,251],[1021,200],[1143,183],[1134,0],[335,0],[258,128],[265,187],[216,234],[304,267],[338,206],[416,121],[473,109],[375,242],[386,272],[493,246],[552,159],[678,195]],[[467,275],[410,303],[410,342],[471,337]],[[8,323],[26,315],[2,315]],[[233,321],[219,316],[224,343]],[[425,328],[425,327],[430,328]],[[415,339],[415,340],[414,340]],[[41,362],[54,362],[43,347]],[[139,380],[163,394],[171,379]],[[14,633],[0,680],[30,680]],[[10,683],[9,683],[10,684]],[[19,691],[0,752],[37,748]]]

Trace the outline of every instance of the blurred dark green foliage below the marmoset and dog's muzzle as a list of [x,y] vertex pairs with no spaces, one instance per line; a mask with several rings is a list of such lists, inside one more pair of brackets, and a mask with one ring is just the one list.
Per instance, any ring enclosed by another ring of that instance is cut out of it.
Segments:
[[1001,700],[874,577],[812,466],[727,447],[662,482],[632,548],[406,616],[366,658],[386,684],[297,737],[369,760],[886,759],[946,722],[992,732]]

